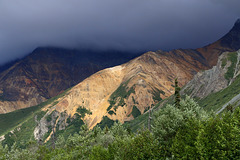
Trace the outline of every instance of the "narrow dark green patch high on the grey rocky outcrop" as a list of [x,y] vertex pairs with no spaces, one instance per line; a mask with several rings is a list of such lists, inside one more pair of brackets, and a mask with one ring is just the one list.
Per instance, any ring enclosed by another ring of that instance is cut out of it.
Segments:
[[237,52],[231,52],[228,54],[228,60],[231,62],[231,65],[228,67],[227,72],[225,73],[224,77],[227,80],[233,78],[236,63],[237,63]]

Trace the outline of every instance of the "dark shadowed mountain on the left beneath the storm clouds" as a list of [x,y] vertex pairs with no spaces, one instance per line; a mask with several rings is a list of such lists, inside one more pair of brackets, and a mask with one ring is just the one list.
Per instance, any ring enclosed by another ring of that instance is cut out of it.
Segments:
[[0,69],[0,113],[37,105],[93,73],[129,61],[136,54],[119,51],[35,49]]

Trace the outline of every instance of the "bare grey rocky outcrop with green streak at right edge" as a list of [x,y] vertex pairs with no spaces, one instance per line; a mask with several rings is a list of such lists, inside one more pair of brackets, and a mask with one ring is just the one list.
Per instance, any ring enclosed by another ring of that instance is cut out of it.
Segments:
[[227,88],[240,74],[240,50],[224,52],[212,69],[198,72],[182,89],[182,93],[204,98]]

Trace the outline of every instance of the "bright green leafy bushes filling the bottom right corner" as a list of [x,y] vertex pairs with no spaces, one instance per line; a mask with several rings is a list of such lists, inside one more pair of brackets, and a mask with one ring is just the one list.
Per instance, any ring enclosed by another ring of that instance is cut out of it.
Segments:
[[240,110],[210,117],[189,119],[175,136],[172,154],[178,159],[239,159]]

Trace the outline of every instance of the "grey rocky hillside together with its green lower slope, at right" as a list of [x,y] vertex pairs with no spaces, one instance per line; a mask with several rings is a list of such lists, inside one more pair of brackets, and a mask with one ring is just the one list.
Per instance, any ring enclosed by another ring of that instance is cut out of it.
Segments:
[[227,105],[240,104],[240,50],[225,52],[212,69],[199,72],[182,89],[184,94],[198,99],[206,110],[220,113]]

